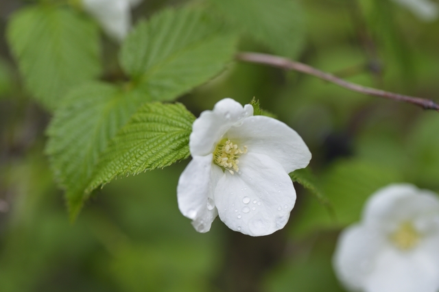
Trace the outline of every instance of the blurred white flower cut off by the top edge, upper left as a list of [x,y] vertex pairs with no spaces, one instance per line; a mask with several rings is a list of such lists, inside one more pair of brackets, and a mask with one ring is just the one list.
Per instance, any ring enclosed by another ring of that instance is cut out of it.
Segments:
[[131,28],[131,8],[142,0],[82,0],[84,9],[115,40],[121,42]]

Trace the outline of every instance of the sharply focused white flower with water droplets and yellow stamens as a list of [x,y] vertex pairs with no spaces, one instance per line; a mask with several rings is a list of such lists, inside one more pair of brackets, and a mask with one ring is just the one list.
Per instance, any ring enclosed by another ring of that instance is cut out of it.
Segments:
[[253,116],[250,104],[222,99],[193,122],[192,160],[178,180],[178,207],[198,232],[213,219],[261,236],[285,226],[296,202],[288,173],[306,167],[307,145],[276,119]]

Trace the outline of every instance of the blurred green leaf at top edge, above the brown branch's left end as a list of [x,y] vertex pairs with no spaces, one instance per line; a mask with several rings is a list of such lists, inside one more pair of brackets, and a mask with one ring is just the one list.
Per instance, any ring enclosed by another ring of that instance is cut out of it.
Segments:
[[305,42],[302,12],[292,0],[211,0],[215,12],[274,53],[296,58]]

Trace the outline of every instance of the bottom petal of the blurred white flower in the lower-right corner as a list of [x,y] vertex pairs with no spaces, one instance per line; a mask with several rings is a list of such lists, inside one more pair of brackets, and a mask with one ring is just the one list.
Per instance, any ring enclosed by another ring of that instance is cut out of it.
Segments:
[[420,248],[400,251],[389,246],[377,256],[365,283],[370,292],[437,292],[439,267]]

